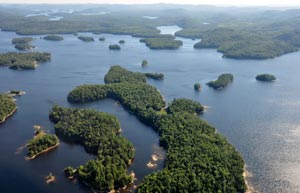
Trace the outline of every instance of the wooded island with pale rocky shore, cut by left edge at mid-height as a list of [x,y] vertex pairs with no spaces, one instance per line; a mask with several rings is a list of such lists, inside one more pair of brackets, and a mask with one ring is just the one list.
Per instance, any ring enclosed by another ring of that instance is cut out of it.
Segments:
[[0,94],[0,124],[4,123],[16,110],[17,106],[13,98],[6,94]]

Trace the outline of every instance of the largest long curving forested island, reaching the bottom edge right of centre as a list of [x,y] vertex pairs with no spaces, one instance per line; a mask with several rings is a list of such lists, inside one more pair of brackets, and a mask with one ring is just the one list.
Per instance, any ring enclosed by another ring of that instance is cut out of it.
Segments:
[[[116,74],[110,70],[108,74],[118,78],[122,72],[130,76],[126,70]],[[160,145],[167,150],[164,169],[146,176],[138,186],[139,193],[246,191],[242,157],[215,128],[195,115],[203,111],[201,104],[175,99],[164,110],[159,91],[143,80],[128,77],[109,82],[78,86],[69,93],[68,101],[113,98],[159,133]]]

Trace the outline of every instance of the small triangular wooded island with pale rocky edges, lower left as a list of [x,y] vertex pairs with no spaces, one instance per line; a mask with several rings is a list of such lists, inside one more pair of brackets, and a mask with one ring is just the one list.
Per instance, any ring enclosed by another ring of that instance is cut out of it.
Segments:
[[31,160],[37,156],[49,152],[59,146],[59,140],[56,135],[46,134],[41,127],[35,126],[34,138],[28,144],[26,159]]

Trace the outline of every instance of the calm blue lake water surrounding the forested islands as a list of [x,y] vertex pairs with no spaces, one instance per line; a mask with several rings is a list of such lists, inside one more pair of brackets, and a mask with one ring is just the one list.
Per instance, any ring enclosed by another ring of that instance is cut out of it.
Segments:
[[[174,33],[175,28],[160,28],[163,33]],[[172,31],[173,30],[173,31]],[[98,39],[100,35],[88,34]],[[14,33],[0,33],[0,52],[14,51]],[[103,36],[103,35],[101,35]],[[53,104],[68,104],[66,96],[75,86],[84,83],[103,83],[111,65],[119,64],[133,71],[161,72],[165,80],[149,83],[157,87],[168,102],[186,97],[209,106],[202,118],[242,153],[249,179],[256,190],[264,193],[300,192],[300,54],[288,54],[276,59],[232,60],[222,58],[216,50],[194,50],[196,41],[182,39],[178,50],[150,50],[138,38],[104,35],[105,42],[86,43],[72,35],[64,35],[62,42],[37,39],[37,51],[52,53],[52,61],[35,71],[0,69],[0,92],[20,89],[26,95],[17,98],[18,112],[0,126],[0,181],[1,192],[88,192],[74,185],[63,175],[63,168],[78,166],[92,159],[81,146],[62,143],[53,152],[35,160],[25,161],[26,150],[15,154],[33,136],[34,124],[53,133],[48,111]],[[110,51],[108,45],[124,39],[121,51]],[[180,38],[177,38],[180,39]],[[147,59],[147,68],[141,61]],[[234,82],[222,91],[215,91],[205,83],[224,72],[234,74]],[[255,81],[258,73],[272,73],[275,83]],[[202,84],[195,92],[195,82]],[[133,170],[138,179],[153,170],[146,167],[151,154],[157,151],[157,138],[151,128],[115,104],[104,100],[76,107],[92,107],[115,114],[121,121],[123,135],[136,148]],[[160,150],[159,150],[160,151]],[[158,168],[162,167],[162,163]],[[44,177],[53,172],[55,184],[46,185]]]

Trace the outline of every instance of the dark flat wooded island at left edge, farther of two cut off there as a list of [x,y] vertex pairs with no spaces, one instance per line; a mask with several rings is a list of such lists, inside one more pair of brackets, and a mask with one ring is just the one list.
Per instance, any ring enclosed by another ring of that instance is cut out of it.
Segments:
[[8,52],[0,54],[0,66],[8,66],[15,70],[33,70],[38,63],[51,60],[51,54],[47,52],[17,53]]

